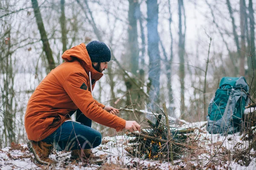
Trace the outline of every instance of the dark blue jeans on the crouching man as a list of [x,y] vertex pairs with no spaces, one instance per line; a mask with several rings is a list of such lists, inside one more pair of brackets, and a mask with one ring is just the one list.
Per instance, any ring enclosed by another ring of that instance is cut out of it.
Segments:
[[91,128],[92,120],[77,110],[76,121],[64,122],[42,141],[51,142],[56,150],[64,151],[90,149],[99,146],[102,142],[102,135],[99,131]]

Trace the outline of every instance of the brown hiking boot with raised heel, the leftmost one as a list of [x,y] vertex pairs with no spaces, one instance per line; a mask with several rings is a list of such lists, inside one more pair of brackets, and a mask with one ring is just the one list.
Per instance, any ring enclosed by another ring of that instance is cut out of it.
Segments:
[[47,144],[44,141],[29,141],[28,142],[29,151],[35,156],[35,159],[41,164],[55,164],[53,159],[49,158],[49,154],[52,151],[52,144]]

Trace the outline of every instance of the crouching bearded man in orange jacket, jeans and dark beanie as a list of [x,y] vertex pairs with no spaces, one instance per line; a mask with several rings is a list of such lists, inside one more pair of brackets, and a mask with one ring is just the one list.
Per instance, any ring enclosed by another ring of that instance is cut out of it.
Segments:
[[[49,158],[53,145],[57,150],[71,150],[72,156],[89,158],[90,148],[99,146],[102,140],[101,133],[91,128],[92,120],[117,131],[140,131],[137,122],[116,116],[118,109],[93,99],[95,82],[111,60],[105,43],[81,43],[65,51],[62,58],[65,62],[35,89],[25,114],[28,147],[41,164],[55,163]],[[77,122],[70,121],[75,111]]]

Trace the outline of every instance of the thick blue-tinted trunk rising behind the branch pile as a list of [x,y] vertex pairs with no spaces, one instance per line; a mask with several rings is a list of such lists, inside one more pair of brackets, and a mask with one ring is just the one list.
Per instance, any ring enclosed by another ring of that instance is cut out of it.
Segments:
[[148,79],[151,87],[149,91],[149,107],[155,111],[156,105],[159,105],[160,91],[160,54],[159,54],[159,35],[158,26],[158,4],[157,0],[147,0],[148,14],[148,56],[149,56],[149,73]]

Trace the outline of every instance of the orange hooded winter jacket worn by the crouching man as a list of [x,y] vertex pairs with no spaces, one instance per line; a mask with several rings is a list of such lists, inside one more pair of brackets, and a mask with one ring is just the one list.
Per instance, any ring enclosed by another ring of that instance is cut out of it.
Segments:
[[105,106],[93,99],[90,92],[103,74],[92,67],[84,43],[64,52],[66,61],[52,70],[38,85],[29,99],[25,114],[25,129],[29,140],[41,141],[70,119],[69,112],[78,108],[95,122],[115,128],[125,127],[125,120],[105,111]]

